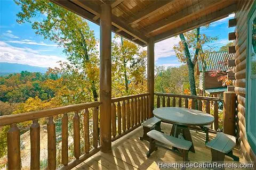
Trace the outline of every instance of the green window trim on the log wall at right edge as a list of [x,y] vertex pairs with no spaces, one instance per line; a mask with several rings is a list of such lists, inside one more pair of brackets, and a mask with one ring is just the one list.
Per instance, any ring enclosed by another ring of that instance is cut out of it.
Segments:
[[[252,123],[254,119],[256,119],[256,112],[251,112],[252,104],[251,102],[255,102],[252,93],[255,92],[255,89],[252,89],[252,81],[251,79],[256,78],[256,74],[252,71],[252,22],[256,18],[256,1],[254,1],[251,10],[247,15],[247,57],[246,57],[246,138],[250,143],[250,146],[254,153],[256,153],[256,132],[255,132],[255,124]],[[253,80],[255,81],[255,80]]]

